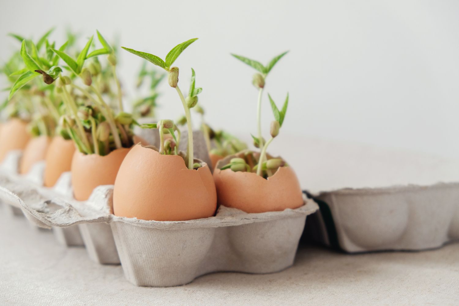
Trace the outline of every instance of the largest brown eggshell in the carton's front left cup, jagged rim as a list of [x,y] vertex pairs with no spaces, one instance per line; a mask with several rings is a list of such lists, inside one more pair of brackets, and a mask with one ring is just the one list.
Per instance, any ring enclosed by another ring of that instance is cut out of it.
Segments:
[[115,182],[113,212],[143,220],[185,221],[211,217],[217,194],[207,164],[189,170],[177,155],[135,145]]

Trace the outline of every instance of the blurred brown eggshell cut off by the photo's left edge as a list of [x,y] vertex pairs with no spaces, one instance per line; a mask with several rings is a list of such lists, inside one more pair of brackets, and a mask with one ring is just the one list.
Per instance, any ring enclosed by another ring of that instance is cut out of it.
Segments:
[[27,130],[27,122],[17,118],[11,118],[2,124],[0,130],[0,162],[11,150],[24,150],[30,133]]

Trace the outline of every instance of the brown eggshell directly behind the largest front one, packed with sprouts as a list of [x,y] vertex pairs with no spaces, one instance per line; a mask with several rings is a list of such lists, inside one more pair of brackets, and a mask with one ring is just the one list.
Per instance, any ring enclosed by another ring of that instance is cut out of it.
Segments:
[[88,200],[92,191],[100,185],[112,185],[118,169],[130,148],[120,148],[106,156],[83,154],[75,150],[72,159],[72,186],[76,200]]

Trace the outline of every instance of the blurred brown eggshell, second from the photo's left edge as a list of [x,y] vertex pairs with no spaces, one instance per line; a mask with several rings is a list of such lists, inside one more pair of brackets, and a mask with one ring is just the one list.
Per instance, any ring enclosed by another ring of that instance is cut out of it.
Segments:
[[19,163],[19,173],[25,174],[37,161],[45,160],[50,142],[51,138],[45,135],[30,139]]

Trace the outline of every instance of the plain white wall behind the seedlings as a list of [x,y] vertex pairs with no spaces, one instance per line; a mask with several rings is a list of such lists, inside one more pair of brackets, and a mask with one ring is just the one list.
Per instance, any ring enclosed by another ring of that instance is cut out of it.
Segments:
[[[280,135],[459,156],[458,14],[453,0],[1,1],[0,60],[18,47],[6,33],[37,38],[53,25],[62,26],[52,36],[59,42],[63,25],[85,36],[97,28],[107,37],[119,33],[123,46],[159,56],[199,37],[176,61],[182,88],[195,68],[210,124],[248,135],[256,133],[253,71],[229,52],[267,62],[291,50],[266,86],[278,103],[290,92]],[[120,53],[132,97],[141,60]],[[160,117],[175,119],[183,112],[178,97],[166,84],[162,91]],[[267,136],[267,99],[263,106]],[[273,144],[273,153],[285,152]]]

